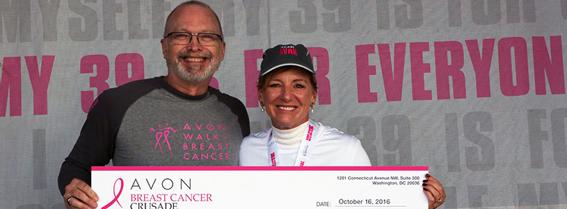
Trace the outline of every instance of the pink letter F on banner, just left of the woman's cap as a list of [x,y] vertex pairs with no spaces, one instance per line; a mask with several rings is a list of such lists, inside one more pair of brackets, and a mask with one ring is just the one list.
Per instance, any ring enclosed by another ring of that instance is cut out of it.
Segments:
[[244,79],[246,84],[246,107],[258,107],[258,59],[262,49],[244,50]]

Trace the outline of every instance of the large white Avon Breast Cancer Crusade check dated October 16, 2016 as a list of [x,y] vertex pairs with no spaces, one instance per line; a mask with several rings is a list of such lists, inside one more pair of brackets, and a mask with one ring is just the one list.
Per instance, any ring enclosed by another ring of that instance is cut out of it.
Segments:
[[427,208],[428,167],[93,167],[98,208]]

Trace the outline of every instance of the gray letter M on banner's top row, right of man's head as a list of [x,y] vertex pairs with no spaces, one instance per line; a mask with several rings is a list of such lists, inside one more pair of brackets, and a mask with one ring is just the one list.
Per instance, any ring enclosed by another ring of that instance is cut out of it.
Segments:
[[233,0],[223,0],[214,1],[207,0],[203,1],[207,3],[215,11],[218,18],[221,20],[223,26],[224,36],[234,36],[234,1]]

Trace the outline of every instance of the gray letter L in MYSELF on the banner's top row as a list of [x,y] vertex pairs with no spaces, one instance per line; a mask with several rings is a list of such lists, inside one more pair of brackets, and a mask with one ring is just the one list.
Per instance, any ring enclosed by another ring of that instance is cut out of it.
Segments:
[[150,32],[142,29],[141,2],[138,0],[128,0],[128,38],[147,39]]

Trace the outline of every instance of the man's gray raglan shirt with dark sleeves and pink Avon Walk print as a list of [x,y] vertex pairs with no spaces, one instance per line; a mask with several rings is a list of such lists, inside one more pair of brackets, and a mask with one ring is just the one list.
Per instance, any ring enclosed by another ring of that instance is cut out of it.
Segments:
[[90,167],[236,166],[250,134],[246,107],[209,87],[177,91],[154,77],[104,91],[91,107],[77,144],[61,166],[59,189],[72,178],[90,184]]

